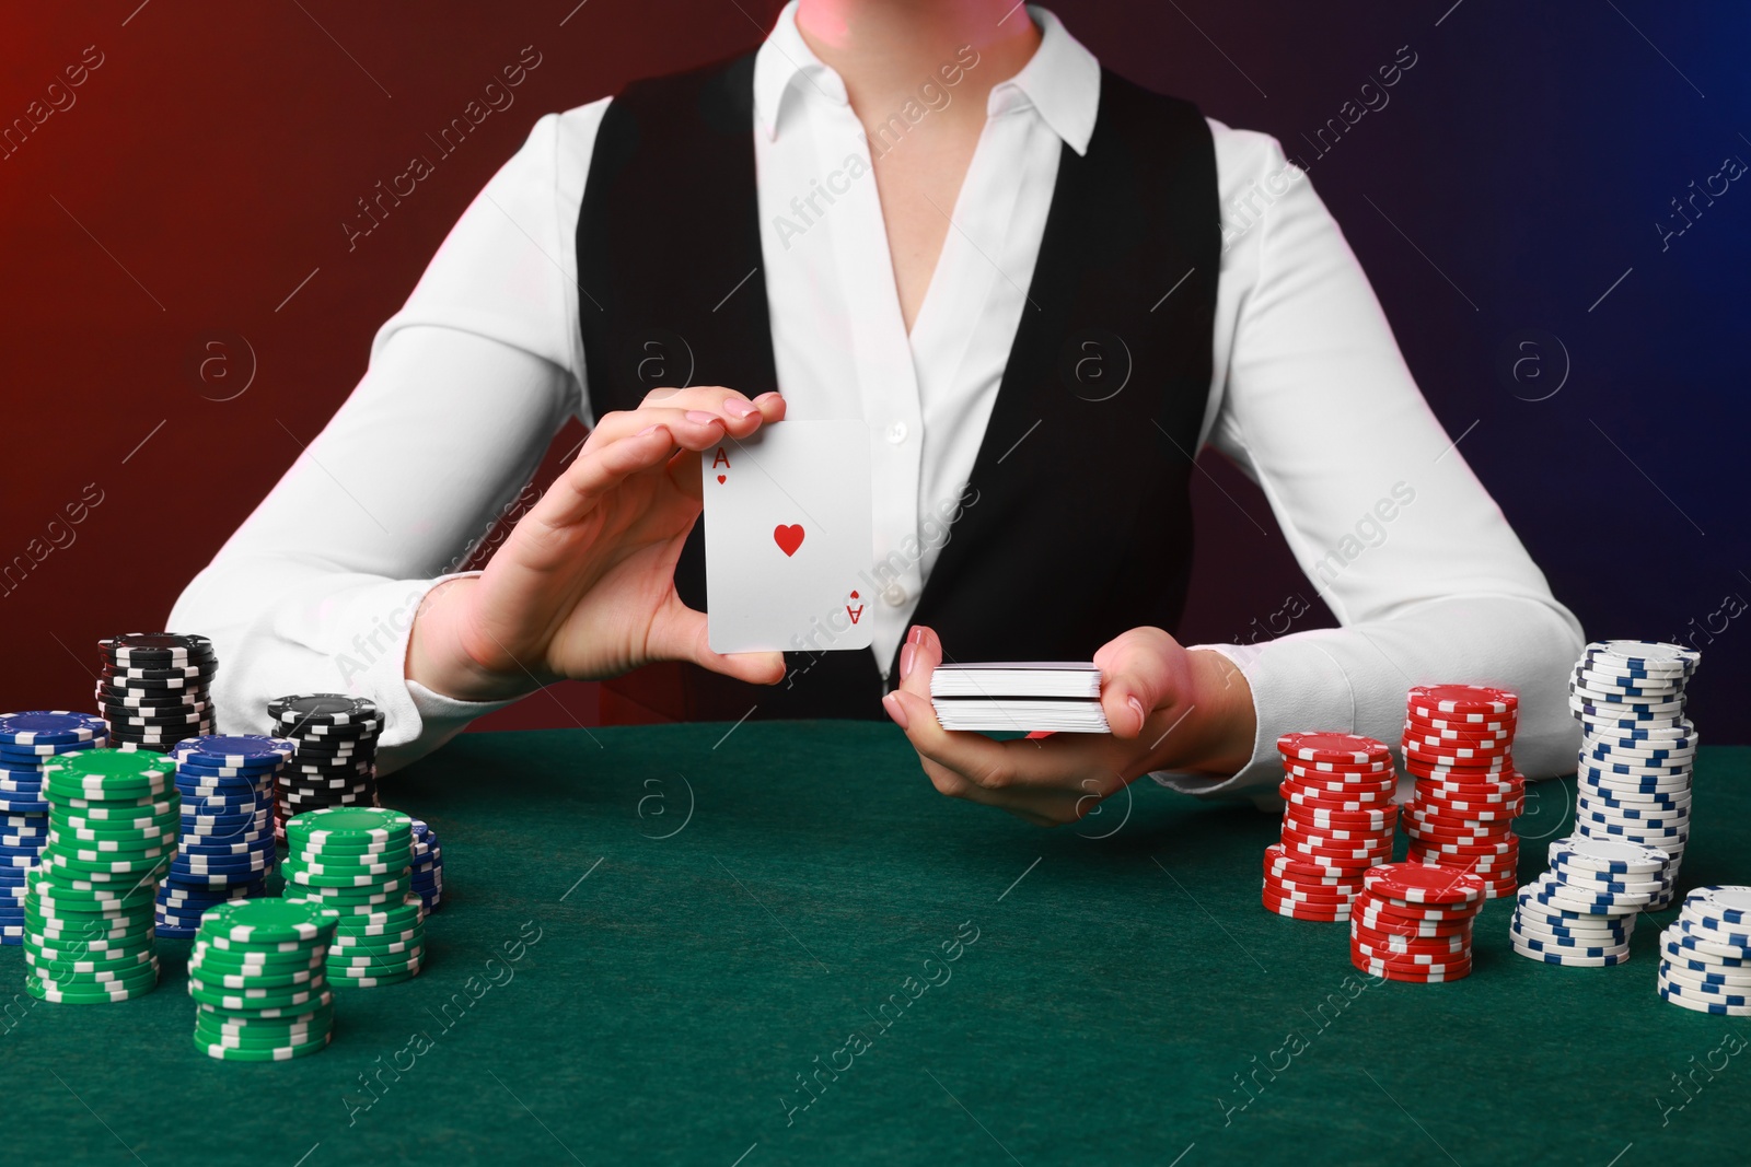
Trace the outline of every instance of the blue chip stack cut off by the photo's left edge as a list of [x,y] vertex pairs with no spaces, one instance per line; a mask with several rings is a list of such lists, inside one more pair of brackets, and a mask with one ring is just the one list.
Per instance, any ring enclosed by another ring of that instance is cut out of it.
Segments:
[[25,941],[25,880],[49,842],[42,766],[107,745],[100,717],[65,709],[0,714],[0,943]]

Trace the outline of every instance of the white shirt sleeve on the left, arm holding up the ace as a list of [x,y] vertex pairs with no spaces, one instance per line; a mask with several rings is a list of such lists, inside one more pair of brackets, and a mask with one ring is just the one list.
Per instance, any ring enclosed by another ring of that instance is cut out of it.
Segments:
[[392,770],[501,707],[406,681],[408,632],[559,427],[588,418],[574,233],[606,107],[536,122],[378,329],[347,402],[177,600],[170,626],[217,647],[226,731],[264,733],[287,693],[368,696]]

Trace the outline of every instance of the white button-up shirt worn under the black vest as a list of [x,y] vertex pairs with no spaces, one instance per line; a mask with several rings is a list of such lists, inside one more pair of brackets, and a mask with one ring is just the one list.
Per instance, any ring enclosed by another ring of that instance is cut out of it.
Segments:
[[[756,56],[749,126],[772,350],[790,416],[870,429],[874,558],[907,565],[870,609],[886,667],[984,439],[1059,150],[1084,152],[1094,129],[1100,65],[1051,12],[1028,9],[1040,47],[989,93],[907,334],[870,145],[795,7]],[[890,122],[907,129],[877,149],[905,149],[932,105],[963,100],[944,77],[926,80],[933,91]],[[574,236],[606,108],[604,98],[536,122],[382,325],[352,397],[184,591],[172,626],[217,644],[226,726],[264,730],[266,702],[282,693],[361,693],[387,709],[382,758],[399,765],[496,709],[408,682],[408,626],[566,418],[592,418]],[[1572,770],[1562,675],[1581,646],[1574,618],[1450,448],[1306,177],[1268,135],[1210,129],[1224,245],[1203,439],[1259,481],[1345,626],[1212,646],[1252,686],[1254,759],[1233,779],[1170,784],[1275,784],[1275,740],[1290,730],[1396,742],[1404,689],[1427,681],[1518,689],[1522,768]]]

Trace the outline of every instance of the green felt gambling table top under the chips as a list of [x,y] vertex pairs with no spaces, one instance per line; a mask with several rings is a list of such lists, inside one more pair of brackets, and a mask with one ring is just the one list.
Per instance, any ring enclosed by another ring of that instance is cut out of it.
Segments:
[[[1572,789],[1522,831],[1558,836]],[[1744,882],[1751,749],[1705,749],[1697,791],[1684,885]],[[340,990],[334,1043],[273,1066],[196,1053],[187,941],[140,1001],[19,992],[0,1162],[1751,1158],[1751,1025],[1655,996],[1674,912],[1567,969],[1495,901],[1467,980],[1371,983],[1347,926],[1261,908],[1271,815],[1145,780],[1042,831],[877,724],[468,735],[383,801],[443,840],[422,976]]]

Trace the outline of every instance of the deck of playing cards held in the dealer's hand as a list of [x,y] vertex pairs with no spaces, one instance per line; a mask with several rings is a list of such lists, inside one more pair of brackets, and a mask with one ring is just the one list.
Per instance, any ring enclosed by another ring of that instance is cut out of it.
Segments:
[[1108,733],[1100,670],[1087,661],[939,665],[930,703],[944,730]]

